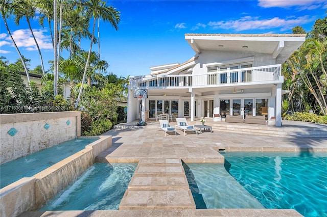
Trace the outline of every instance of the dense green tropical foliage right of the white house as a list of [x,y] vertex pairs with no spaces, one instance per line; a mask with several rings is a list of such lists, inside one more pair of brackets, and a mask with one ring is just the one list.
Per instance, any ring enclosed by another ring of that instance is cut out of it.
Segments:
[[[305,31],[296,26],[294,34]],[[316,20],[307,40],[283,64],[285,82],[283,111],[313,111],[327,115],[327,17]]]

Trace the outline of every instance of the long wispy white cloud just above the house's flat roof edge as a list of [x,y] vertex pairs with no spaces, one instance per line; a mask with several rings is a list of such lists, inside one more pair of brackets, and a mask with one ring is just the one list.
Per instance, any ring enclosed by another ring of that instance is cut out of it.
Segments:
[[274,17],[271,19],[260,19],[259,17],[245,16],[238,20],[210,21],[208,25],[211,26],[214,30],[233,29],[237,31],[243,31],[281,28],[282,31],[285,31],[294,28],[296,25],[303,25],[313,20],[315,20],[315,17],[311,16],[288,17],[285,19],[279,17]]

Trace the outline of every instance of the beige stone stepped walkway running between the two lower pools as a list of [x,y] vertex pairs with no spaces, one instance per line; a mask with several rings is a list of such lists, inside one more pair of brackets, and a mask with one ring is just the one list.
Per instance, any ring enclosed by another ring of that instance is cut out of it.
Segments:
[[195,209],[180,159],[143,158],[119,209]]

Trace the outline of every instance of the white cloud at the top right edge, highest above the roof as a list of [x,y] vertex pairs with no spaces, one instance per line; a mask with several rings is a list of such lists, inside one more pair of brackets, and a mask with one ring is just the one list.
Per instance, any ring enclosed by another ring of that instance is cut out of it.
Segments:
[[323,8],[326,3],[321,0],[258,0],[258,5],[263,8],[290,8],[299,7],[299,10],[313,10]]

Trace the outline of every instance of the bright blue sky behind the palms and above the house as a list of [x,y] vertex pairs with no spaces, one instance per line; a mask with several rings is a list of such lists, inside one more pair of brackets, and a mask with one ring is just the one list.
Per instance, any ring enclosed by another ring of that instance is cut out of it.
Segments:
[[[324,0],[258,1],[107,1],[121,12],[119,30],[100,22],[101,59],[108,72],[118,76],[150,74],[150,67],[183,63],[195,53],[184,39],[185,33],[291,33],[300,25],[309,32],[316,19],[326,16]],[[22,55],[31,59],[30,69],[40,58],[25,20],[17,26],[7,20]],[[44,67],[53,60],[50,31],[32,21],[43,55]],[[89,41],[82,48],[88,50]],[[98,45],[93,46],[98,51]],[[0,22],[0,55],[16,61],[17,51]],[[65,53],[63,53],[63,57]]]

